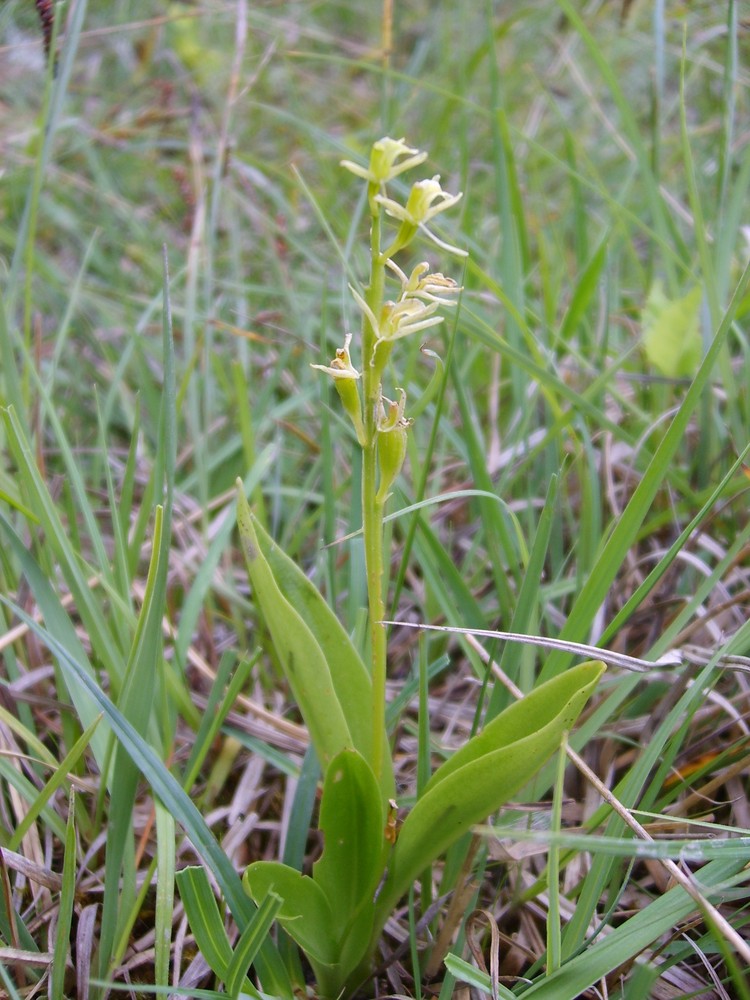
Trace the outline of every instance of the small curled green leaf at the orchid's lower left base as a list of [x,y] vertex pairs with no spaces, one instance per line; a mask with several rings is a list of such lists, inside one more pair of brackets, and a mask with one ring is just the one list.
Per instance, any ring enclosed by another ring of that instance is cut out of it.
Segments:
[[282,900],[276,919],[308,958],[334,966],[338,960],[328,899],[309,875],[279,861],[256,861],[242,877],[245,891],[260,906],[269,893]]

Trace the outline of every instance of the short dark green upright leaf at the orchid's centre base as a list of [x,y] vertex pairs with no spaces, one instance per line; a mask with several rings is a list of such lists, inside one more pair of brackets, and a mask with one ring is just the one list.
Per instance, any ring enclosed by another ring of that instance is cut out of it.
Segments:
[[[364,905],[372,913],[387,847],[378,784],[370,765],[356,750],[344,750],[331,761],[323,785],[319,827],[324,836],[323,854],[313,868],[313,879],[328,897],[335,933],[343,941]],[[369,933],[362,951],[368,939]]]

